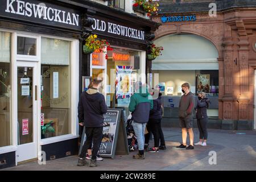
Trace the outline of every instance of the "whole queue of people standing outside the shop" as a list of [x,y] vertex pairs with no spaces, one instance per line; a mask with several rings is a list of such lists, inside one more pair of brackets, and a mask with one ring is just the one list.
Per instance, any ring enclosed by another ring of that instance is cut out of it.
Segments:
[[[81,94],[78,107],[78,117],[81,126],[85,126],[86,141],[82,146],[77,166],[85,166],[86,159],[90,159],[89,166],[98,166],[97,161],[102,158],[98,155],[102,140],[103,114],[107,107],[105,97],[98,92],[101,80],[94,79],[89,89]],[[200,92],[197,101],[190,91],[190,85],[185,82],[181,85],[182,92],[179,103],[179,123],[182,131],[182,142],[177,149],[194,149],[193,134],[193,110],[196,110],[197,126],[199,127],[199,142],[195,145],[207,146],[207,108],[209,100],[204,92]],[[145,159],[145,150],[148,152],[159,152],[166,150],[166,143],[161,127],[163,105],[162,94],[159,88],[152,88],[148,92],[146,84],[136,82],[135,93],[130,98],[129,111],[131,112],[132,126],[138,142],[138,154],[134,159]],[[148,133],[145,135],[145,130]],[[151,134],[154,136],[154,147],[149,147]],[[187,144],[189,135],[189,144]],[[91,155],[89,155],[91,153]],[[103,159],[102,159],[103,160]]]

